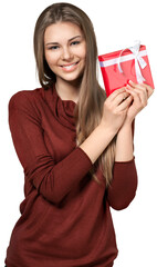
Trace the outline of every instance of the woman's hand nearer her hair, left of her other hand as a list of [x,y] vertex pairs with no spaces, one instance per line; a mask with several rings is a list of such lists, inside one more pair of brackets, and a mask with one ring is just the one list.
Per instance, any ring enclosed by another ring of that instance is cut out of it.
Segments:
[[126,92],[125,87],[111,93],[104,101],[101,125],[112,129],[116,134],[123,126],[132,100],[133,97]]

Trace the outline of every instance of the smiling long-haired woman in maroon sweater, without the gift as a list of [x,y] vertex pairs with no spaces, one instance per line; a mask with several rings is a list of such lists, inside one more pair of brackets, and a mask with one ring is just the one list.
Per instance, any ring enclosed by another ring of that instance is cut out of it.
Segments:
[[42,88],[9,102],[25,198],[6,265],[112,267],[117,246],[109,207],[124,209],[135,197],[134,119],[153,89],[129,82],[106,99],[93,24],[70,3],[41,13],[34,53]]

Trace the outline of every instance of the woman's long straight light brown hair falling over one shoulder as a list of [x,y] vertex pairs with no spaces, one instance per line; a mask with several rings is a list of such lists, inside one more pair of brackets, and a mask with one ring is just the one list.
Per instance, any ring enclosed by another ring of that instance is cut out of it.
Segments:
[[[59,21],[69,21],[77,24],[84,33],[86,41],[86,65],[81,81],[80,99],[75,108],[76,137],[80,146],[98,126],[104,101],[105,90],[97,81],[97,46],[93,24],[86,13],[71,3],[61,2],[48,7],[39,17],[34,30],[34,55],[41,86],[46,90],[55,81],[55,75],[49,68],[44,57],[44,31],[48,26]],[[97,167],[101,168],[108,186],[113,177],[113,165],[115,160],[116,136],[100,156],[91,170],[93,178],[100,184],[95,176]]]

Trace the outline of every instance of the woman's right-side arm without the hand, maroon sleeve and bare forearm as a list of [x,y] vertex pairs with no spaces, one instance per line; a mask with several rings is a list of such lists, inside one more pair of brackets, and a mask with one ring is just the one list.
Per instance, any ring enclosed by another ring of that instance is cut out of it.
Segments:
[[133,155],[134,128],[135,120],[132,125],[124,125],[117,134],[113,180],[107,189],[107,201],[116,210],[127,208],[136,195],[138,177]]

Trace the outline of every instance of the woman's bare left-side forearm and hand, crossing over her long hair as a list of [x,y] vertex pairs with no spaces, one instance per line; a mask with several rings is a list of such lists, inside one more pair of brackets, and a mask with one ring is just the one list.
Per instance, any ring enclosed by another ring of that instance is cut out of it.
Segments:
[[[121,88],[114,91],[105,100],[101,123],[81,145],[81,148],[88,155],[93,164],[105,150],[124,123],[127,108],[133,99],[130,96],[123,101],[125,97],[128,97],[128,93],[126,92],[125,88]],[[123,131],[121,136],[123,137]],[[119,139],[122,139],[122,137],[119,137]]]

